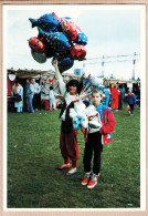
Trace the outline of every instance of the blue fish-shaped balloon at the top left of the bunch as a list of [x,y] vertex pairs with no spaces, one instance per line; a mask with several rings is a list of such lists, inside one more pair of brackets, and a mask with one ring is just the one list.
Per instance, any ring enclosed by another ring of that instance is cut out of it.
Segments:
[[55,18],[54,13],[44,14],[44,16],[40,17],[39,19],[31,19],[30,18],[29,20],[32,23],[32,28],[40,27],[46,32],[55,31],[60,24],[57,19]]

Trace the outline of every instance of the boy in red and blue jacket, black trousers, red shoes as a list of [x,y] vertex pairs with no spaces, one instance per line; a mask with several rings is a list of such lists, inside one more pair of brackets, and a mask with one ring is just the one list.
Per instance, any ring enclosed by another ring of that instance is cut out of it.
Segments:
[[[91,128],[88,126],[87,141],[84,150],[84,179],[82,185],[87,185],[87,188],[93,188],[97,184],[101,175],[101,156],[103,145],[112,142],[112,132],[115,128],[115,119],[112,109],[103,105],[103,92],[94,89],[92,91],[92,102],[99,114],[102,125],[101,127]],[[94,160],[93,160],[94,155]],[[91,167],[93,161],[93,167]]]

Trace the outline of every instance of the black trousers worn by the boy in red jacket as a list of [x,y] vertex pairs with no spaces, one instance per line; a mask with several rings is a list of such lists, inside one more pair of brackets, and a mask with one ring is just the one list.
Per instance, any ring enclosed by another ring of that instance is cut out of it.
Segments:
[[102,152],[103,152],[102,134],[99,132],[88,134],[87,142],[85,143],[83,157],[85,173],[91,172],[92,157],[94,154],[93,173],[98,175],[98,173],[101,172]]

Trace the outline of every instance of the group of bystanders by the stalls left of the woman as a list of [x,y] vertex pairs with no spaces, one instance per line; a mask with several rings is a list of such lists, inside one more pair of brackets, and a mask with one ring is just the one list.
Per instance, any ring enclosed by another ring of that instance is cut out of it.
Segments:
[[[24,88],[17,80],[12,86],[11,94],[14,97],[14,109],[17,113],[22,113],[24,110],[29,113],[34,113],[34,111],[42,107],[41,86],[35,82],[34,78],[27,79]],[[50,110],[56,110],[52,86],[49,89],[49,103]]]

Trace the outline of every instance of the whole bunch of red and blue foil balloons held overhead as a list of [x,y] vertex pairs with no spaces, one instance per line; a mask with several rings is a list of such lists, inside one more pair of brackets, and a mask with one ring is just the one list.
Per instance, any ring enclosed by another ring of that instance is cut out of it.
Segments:
[[60,72],[71,69],[74,60],[85,60],[87,37],[71,20],[59,18],[54,12],[46,13],[39,19],[29,19],[32,28],[38,27],[38,37],[29,40],[31,54],[39,63],[49,58],[56,58]]

